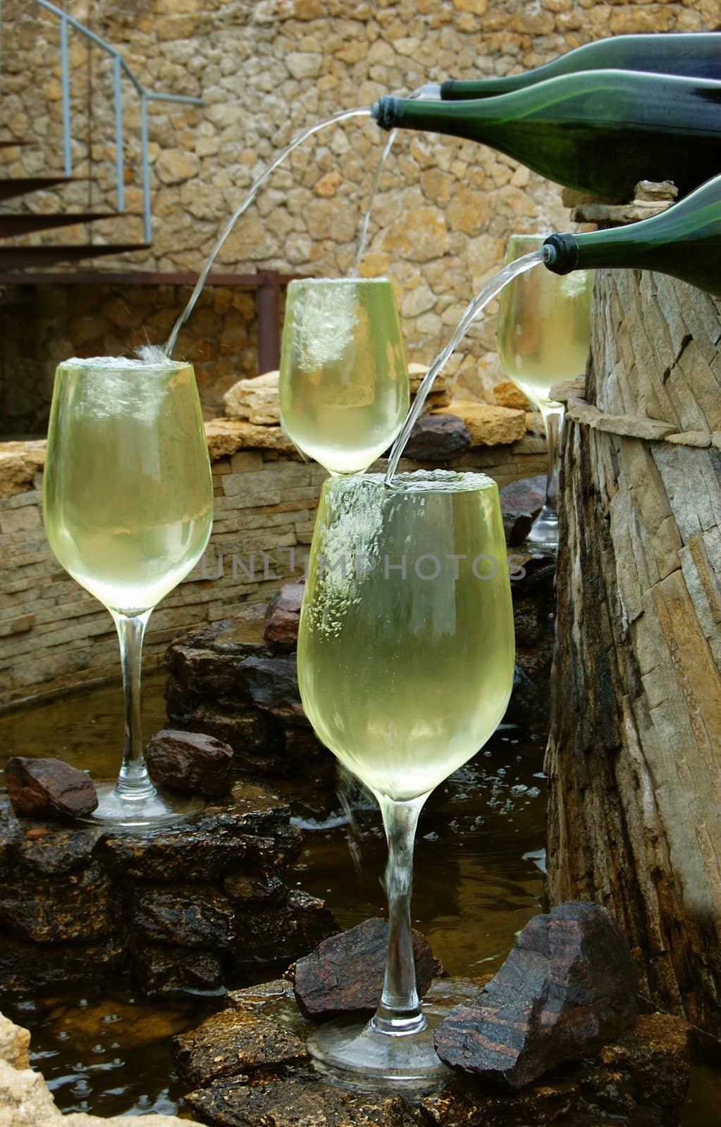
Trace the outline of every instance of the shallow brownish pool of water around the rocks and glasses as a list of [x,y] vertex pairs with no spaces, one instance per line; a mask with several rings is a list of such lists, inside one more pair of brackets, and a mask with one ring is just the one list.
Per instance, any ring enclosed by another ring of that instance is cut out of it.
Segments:
[[[147,736],[165,725],[164,675],[146,678]],[[107,685],[0,716],[0,769],[9,755],[59,755],[112,777],[122,747],[122,691]],[[498,969],[516,934],[543,911],[545,780],[542,749],[500,731],[475,760],[431,796],[419,825],[414,925],[428,935],[451,975]],[[2,779],[0,777],[0,786]],[[289,872],[327,900],[342,928],[385,909],[380,878],[386,846],[380,815],[358,802],[353,825],[338,804],[306,829],[301,857]],[[267,976],[266,976],[267,977]],[[191,1029],[218,1001],[158,1002],[125,990],[85,997],[6,1005],[33,1033],[32,1063],[64,1111],[190,1118],[184,1085],[173,1070],[170,1038]],[[711,1058],[694,1068],[684,1127],[719,1127],[721,1072]]]

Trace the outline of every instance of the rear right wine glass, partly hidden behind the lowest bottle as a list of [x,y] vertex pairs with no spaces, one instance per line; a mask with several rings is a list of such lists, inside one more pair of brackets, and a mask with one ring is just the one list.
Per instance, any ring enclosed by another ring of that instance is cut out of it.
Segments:
[[[537,250],[546,236],[511,234],[504,263]],[[559,547],[559,441],[563,405],[551,387],[574,380],[586,370],[591,334],[592,270],[563,277],[551,270],[520,274],[501,293],[498,349],[507,375],[538,408],[548,445],[546,500],[526,543],[531,549]]]

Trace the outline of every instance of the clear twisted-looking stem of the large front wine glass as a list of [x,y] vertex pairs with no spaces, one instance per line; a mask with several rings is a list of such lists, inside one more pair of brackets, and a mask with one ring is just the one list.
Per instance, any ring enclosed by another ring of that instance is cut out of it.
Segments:
[[415,985],[415,959],[411,933],[413,888],[413,843],[425,796],[397,802],[379,796],[378,802],[388,840],[386,895],[388,897],[388,958],[380,1005],[373,1028],[395,1036],[416,1033],[425,1028]]

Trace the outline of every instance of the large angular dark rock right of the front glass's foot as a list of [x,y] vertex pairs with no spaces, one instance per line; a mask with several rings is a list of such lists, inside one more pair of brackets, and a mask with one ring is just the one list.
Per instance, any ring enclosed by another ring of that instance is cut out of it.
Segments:
[[598,904],[571,900],[526,924],[483,992],[436,1030],[446,1064],[521,1088],[613,1040],[639,1015],[626,939]]

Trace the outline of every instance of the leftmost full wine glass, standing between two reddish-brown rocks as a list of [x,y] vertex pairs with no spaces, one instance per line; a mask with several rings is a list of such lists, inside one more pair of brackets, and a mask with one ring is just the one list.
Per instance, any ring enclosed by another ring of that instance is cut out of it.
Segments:
[[43,512],[59,562],[111,612],[120,638],[125,746],[93,819],[156,826],[203,802],[156,791],[140,727],[150,613],[195,566],[213,520],[208,445],[190,364],[93,357],[55,374]]

